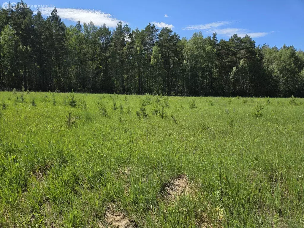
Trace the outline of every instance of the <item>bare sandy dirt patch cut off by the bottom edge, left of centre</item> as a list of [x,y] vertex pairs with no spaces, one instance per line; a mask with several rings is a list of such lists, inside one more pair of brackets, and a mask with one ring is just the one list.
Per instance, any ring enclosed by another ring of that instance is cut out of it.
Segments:
[[116,227],[116,228],[135,228],[136,225],[133,221],[124,215],[121,212],[116,212],[112,206],[110,206],[109,210],[105,213],[105,222],[107,226],[102,223],[99,223],[98,226],[100,228],[105,227]]

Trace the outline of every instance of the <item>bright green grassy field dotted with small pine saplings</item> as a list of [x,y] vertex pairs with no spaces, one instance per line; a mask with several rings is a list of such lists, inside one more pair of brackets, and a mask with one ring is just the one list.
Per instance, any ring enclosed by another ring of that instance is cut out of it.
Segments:
[[304,227],[304,99],[71,96],[0,92],[0,227]]

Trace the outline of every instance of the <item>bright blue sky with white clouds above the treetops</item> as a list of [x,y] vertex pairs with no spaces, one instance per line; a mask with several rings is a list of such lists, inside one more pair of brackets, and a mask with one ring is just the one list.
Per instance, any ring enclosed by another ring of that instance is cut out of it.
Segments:
[[[55,5],[67,25],[92,20],[98,26],[105,22],[112,30],[121,20],[132,29],[143,29],[149,22],[156,22],[160,28],[171,26],[181,37],[190,38],[199,31],[204,36],[214,31],[218,40],[229,39],[234,33],[250,34],[257,45],[282,47],[285,43],[304,50],[304,0],[47,1],[26,3]],[[50,11],[42,9],[45,16]]]

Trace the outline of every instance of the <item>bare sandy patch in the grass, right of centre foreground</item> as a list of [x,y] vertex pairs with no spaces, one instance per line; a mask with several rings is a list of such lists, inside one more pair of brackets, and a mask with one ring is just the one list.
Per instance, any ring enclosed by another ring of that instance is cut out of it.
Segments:
[[188,177],[186,175],[180,175],[171,180],[166,187],[166,192],[170,201],[174,201],[174,199],[183,192],[189,192]]

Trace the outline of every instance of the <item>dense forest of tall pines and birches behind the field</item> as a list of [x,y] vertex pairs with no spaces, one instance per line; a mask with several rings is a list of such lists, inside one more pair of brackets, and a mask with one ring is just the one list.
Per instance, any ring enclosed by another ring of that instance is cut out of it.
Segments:
[[187,40],[151,23],[67,27],[56,8],[44,19],[21,7],[0,9],[0,32],[0,90],[304,97],[304,52],[250,36]]

